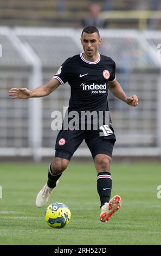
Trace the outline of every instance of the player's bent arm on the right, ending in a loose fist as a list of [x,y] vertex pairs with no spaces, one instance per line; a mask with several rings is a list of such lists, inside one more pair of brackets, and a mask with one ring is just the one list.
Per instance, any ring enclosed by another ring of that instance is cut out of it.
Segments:
[[124,92],[123,88],[120,86],[119,82],[115,79],[113,82],[108,82],[108,87],[112,94],[118,99],[125,101],[128,105],[132,107],[138,106],[138,97],[137,95],[132,95],[127,97],[126,93]]

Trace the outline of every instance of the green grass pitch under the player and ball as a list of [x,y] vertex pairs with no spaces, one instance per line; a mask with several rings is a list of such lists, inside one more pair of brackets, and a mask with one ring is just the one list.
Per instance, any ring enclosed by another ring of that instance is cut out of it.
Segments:
[[102,223],[94,164],[71,161],[48,202],[65,203],[72,212],[63,229],[50,228],[44,220],[46,207],[35,206],[48,165],[0,164],[1,245],[161,245],[161,164],[112,163],[112,196],[119,194],[122,205]]

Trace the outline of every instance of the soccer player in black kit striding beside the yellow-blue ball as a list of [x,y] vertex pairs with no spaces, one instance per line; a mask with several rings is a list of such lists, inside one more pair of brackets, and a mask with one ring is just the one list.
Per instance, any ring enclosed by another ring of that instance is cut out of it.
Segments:
[[[83,52],[68,58],[51,80],[34,90],[27,88],[12,88],[9,95],[13,99],[28,99],[29,97],[43,97],[52,93],[57,87],[69,83],[71,96],[68,113],[77,111],[100,112],[109,111],[108,89],[118,99],[132,107],[138,105],[136,95],[128,97],[115,78],[115,62],[107,56],[99,54],[102,39],[96,27],[85,27],[81,34]],[[80,121],[81,122],[81,121]],[[100,136],[100,130],[104,136]],[[100,197],[100,221],[107,222],[112,214],[121,206],[120,196],[111,200],[112,176],[110,163],[113,145],[115,143],[114,130],[111,124],[104,124],[97,130],[62,129],[56,139],[55,157],[48,170],[48,181],[37,194],[36,206],[44,206],[58,184],[62,172],[67,168],[71,157],[81,142],[85,139],[91,151],[97,175],[97,190]]]

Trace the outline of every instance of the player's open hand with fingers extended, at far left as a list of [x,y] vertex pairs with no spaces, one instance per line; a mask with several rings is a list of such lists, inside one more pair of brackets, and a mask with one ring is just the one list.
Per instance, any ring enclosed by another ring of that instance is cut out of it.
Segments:
[[31,96],[31,91],[27,88],[11,88],[9,96],[12,99],[28,99]]

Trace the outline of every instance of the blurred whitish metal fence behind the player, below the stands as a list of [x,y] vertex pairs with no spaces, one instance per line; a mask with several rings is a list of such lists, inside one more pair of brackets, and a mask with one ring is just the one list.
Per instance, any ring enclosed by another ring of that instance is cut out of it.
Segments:
[[[50,80],[68,57],[82,51],[80,34],[75,29],[0,27],[0,156],[54,156],[58,131],[51,130],[51,113],[68,106],[69,85],[29,100],[12,100],[8,90],[33,89]],[[161,156],[161,33],[101,29],[100,34],[100,53],[115,60],[125,92],[139,97],[139,106],[132,108],[108,95],[117,136],[114,155]],[[75,155],[90,155],[85,142]]]

